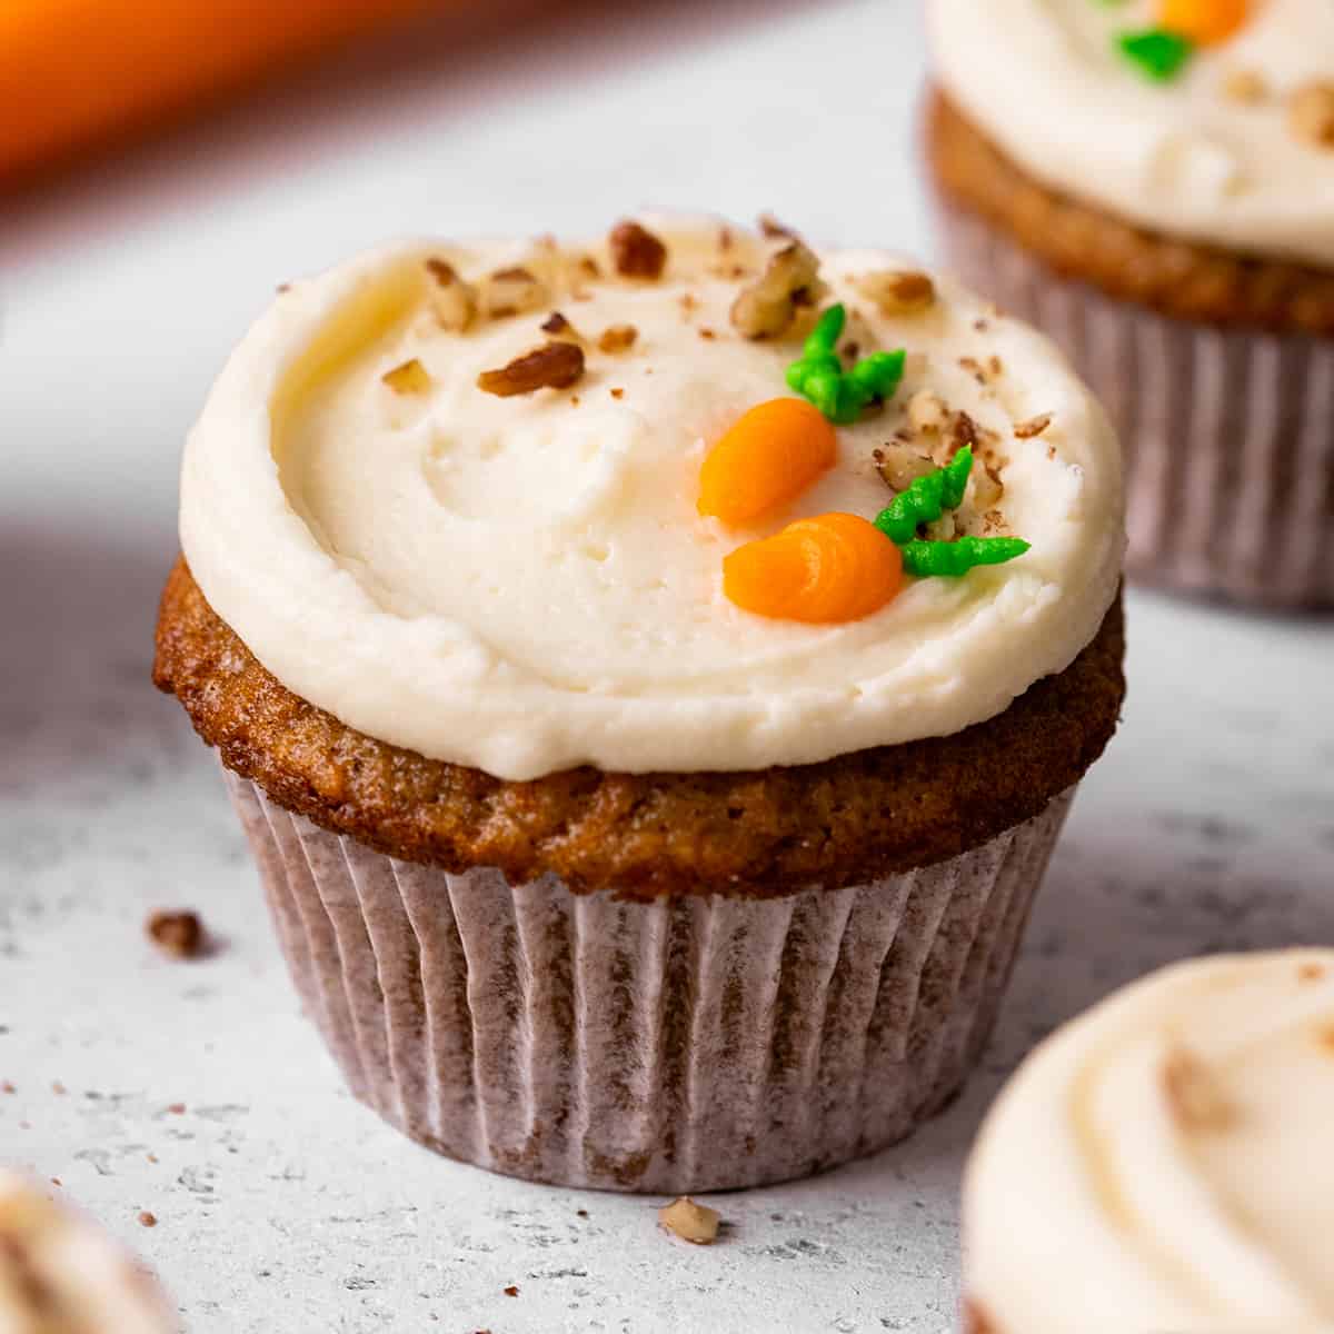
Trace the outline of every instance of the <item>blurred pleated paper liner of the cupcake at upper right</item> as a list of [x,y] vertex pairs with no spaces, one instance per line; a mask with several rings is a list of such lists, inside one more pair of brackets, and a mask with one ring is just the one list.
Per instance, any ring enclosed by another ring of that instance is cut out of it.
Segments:
[[1334,339],[1158,315],[1061,277],[938,197],[950,265],[1058,342],[1126,451],[1126,568],[1271,607],[1334,606]]

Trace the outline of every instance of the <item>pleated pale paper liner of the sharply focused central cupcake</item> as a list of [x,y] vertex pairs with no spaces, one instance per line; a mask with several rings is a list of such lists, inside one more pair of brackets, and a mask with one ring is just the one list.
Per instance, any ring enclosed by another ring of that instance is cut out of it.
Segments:
[[640,903],[402,862],[224,772],[358,1098],[451,1158],[659,1194],[832,1167],[943,1107],[1073,796],[867,884]]

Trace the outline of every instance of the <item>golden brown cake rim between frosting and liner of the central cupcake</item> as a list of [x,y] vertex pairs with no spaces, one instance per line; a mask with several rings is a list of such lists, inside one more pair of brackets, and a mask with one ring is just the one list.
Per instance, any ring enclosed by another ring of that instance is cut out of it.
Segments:
[[554,874],[576,892],[768,898],[839,888],[968,851],[1039,814],[1102,754],[1125,695],[1119,598],[1094,640],[1005,712],[954,736],[750,772],[531,782],[427,759],[347,727],[279,683],[179,559],[153,682],[233,772],[316,824],[462,872]]

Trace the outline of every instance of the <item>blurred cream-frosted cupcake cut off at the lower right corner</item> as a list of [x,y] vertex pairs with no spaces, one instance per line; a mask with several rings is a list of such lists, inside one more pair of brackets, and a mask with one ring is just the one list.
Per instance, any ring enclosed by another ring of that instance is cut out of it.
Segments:
[[1155,972],[1047,1039],[964,1178],[974,1334],[1334,1329],[1334,950]]

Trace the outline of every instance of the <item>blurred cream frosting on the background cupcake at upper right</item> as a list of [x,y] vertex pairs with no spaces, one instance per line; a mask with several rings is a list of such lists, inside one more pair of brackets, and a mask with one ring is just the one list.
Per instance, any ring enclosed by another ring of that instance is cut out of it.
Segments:
[[[1117,33],[1154,0],[928,0],[950,97],[1038,180],[1143,227],[1243,253],[1334,267],[1334,152],[1291,129],[1287,100],[1334,79],[1330,0],[1253,0],[1230,40],[1174,79],[1146,79]],[[1223,92],[1233,71],[1267,85]]]

